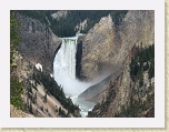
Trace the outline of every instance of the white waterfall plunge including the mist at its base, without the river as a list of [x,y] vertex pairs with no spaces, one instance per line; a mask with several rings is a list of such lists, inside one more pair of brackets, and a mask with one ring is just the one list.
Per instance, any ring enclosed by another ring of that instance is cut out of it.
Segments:
[[61,48],[53,62],[53,77],[63,87],[67,95],[77,94],[76,91],[76,53],[78,37],[62,38]]

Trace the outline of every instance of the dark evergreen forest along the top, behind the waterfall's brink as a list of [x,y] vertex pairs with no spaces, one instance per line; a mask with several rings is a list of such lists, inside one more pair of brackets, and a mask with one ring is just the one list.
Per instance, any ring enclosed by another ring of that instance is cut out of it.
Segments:
[[77,30],[74,27],[88,19],[87,27],[81,33],[87,33],[102,17],[111,16],[115,26],[119,26],[127,10],[69,10],[67,17],[59,20],[52,18],[58,10],[18,10],[20,14],[37,19],[49,27],[58,37],[73,37]]

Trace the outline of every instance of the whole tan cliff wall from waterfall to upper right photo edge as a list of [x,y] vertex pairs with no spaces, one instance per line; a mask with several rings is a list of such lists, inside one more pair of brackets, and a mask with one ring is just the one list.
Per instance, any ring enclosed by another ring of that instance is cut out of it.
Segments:
[[105,17],[82,41],[80,75],[93,79],[102,72],[112,73],[133,45],[142,47],[155,41],[155,11],[128,11],[119,27],[110,16]]

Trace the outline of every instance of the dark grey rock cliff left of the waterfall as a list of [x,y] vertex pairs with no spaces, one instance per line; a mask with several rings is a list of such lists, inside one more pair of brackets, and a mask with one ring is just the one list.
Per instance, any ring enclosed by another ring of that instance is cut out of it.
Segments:
[[61,40],[40,21],[18,14],[21,21],[19,50],[33,65],[41,63],[43,70],[52,72],[54,53]]

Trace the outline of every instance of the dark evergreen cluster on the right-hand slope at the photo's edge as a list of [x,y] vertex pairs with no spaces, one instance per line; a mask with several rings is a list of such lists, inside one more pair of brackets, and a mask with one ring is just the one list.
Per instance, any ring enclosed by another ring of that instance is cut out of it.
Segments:
[[139,80],[139,87],[143,85],[143,71],[148,71],[149,79],[155,77],[155,44],[148,48],[137,47],[130,62],[130,77],[133,82]]

